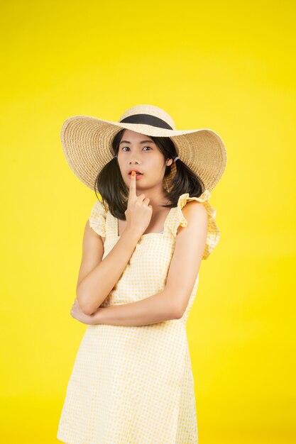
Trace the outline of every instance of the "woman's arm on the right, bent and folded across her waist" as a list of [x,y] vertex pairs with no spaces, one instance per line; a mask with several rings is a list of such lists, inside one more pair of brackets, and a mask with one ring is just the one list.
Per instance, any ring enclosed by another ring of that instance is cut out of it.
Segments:
[[[163,292],[141,301],[111,305],[97,309],[89,316],[89,324],[116,326],[143,326],[151,323],[179,319],[189,302],[197,279],[207,240],[207,211],[199,202],[187,203],[183,213],[188,221],[186,228],[179,227],[168,279]],[[79,308],[75,308],[75,310]],[[72,316],[75,316],[75,310]]]

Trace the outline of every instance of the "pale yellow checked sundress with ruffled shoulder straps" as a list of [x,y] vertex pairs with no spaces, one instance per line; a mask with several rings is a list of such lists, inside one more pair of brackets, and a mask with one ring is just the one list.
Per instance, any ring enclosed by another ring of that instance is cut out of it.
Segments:
[[[128,304],[161,292],[182,207],[204,204],[208,214],[203,259],[219,241],[209,190],[182,194],[160,233],[141,236],[128,264],[101,306]],[[106,238],[103,259],[119,240],[118,220],[96,201],[90,226]],[[186,322],[199,276],[182,318],[147,326],[89,325],[77,352],[60,415],[57,439],[67,444],[197,444],[194,379]]]

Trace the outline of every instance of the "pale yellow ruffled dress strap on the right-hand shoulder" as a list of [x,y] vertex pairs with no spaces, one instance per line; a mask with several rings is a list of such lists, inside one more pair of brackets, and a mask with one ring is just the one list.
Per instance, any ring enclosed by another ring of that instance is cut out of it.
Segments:
[[209,190],[206,189],[199,197],[190,197],[189,193],[181,194],[177,202],[177,221],[176,221],[177,223],[175,226],[175,233],[177,233],[178,226],[182,227],[187,226],[187,219],[182,213],[182,208],[187,204],[187,202],[193,200],[202,202],[202,204],[207,210],[207,216],[208,216],[207,244],[204,249],[204,255],[202,259],[207,259],[207,257],[209,257],[209,254],[212,252],[212,250],[214,250],[220,238],[220,231],[219,228],[216,226],[216,221],[215,221],[216,210],[211,206],[211,204],[209,204],[208,201],[210,197],[211,194]]

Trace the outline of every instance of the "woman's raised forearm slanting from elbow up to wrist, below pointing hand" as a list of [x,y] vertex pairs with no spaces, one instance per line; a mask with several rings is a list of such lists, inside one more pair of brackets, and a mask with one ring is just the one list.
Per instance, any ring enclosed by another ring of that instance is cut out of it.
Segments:
[[140,234],[126,228],[109,254],[82,279],[77,287],[77,298],[84,313],[94,313],[109,295],[124,272],[140,237]]

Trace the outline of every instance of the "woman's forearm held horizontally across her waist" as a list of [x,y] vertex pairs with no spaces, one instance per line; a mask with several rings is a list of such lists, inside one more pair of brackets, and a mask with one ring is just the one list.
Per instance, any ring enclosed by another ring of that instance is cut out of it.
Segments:
[[177,319],[179,318],[177,313],[177,309],[172,304],[172,298],[163,290],[163,292],[153,294],[141,301],[99,308],[92,314],[92,323],[114,326],[146,326],[151,323]]

